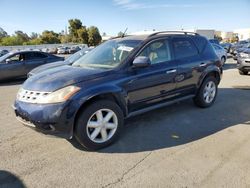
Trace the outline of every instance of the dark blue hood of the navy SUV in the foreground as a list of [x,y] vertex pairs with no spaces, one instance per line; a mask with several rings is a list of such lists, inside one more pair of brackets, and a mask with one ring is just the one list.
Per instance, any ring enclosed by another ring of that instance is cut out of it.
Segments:
[[65,65],[31,76],[24,82],[22,87],[31,91],[53,92],[69,85],[105,76],[109,72],[110,70],[107,69]]

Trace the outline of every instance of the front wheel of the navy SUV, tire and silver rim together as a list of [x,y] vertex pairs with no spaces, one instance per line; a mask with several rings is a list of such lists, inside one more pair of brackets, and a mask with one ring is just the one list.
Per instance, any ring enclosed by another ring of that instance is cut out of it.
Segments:
[[78,116],[75,137],[88,150],[98,150],[112,144],[124,122],[120,107],[109,100],[99,100],[87,106]]

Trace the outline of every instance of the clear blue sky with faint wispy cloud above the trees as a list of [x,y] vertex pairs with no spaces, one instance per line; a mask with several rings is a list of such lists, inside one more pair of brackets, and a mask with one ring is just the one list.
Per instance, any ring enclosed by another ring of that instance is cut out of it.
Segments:
[[250,0],[0,0],[0,27],[9,34],[60,32],[68,20],[102,34],[143,30],[250,28]]

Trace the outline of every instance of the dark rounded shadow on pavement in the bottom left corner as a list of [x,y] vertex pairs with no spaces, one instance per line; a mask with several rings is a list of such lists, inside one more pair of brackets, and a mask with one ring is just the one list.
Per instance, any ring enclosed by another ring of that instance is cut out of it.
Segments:
[[0,170],[0,187],[25,188],[26,186],[16,175],[5,170]]

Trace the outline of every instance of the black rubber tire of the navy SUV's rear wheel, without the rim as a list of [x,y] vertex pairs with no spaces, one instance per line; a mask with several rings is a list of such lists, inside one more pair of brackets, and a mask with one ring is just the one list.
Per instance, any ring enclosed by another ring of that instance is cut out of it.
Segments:
[[[209,82],[213,82],[215,84],[215,96],[214,96],[214,98],[213,98],[213,100],[211,102],[207,103],[205,101],[205,98],[204,98],[204,90],[205,90],[206,85]],[[198,107],[201,107],[201,108],[210,107],[211,105],[213,105],[214,101],[216,100],[217,92],[218,92],[218,81],[216,80],[215,77],[209,76],[209,77],[205,78],[205,80],[201,84],[201,86],[200,86],[196,96],[194,97],[193,101],[194,101],[195,105],[198,106]]]

